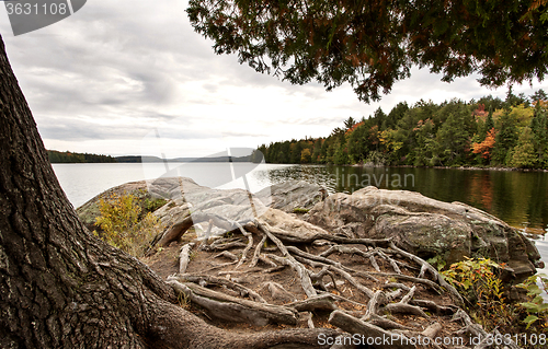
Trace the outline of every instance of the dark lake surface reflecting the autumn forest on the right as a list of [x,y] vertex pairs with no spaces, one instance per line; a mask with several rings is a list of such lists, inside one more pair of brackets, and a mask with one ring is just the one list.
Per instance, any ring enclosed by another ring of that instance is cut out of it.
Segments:
[[351,194],[367,185],[404,189],[442,201],[460,201],[486,210],[511,225],[546,230],[548,173],[413,167],[287,165],[255,172],[270,184],[297,179],[330,193]]

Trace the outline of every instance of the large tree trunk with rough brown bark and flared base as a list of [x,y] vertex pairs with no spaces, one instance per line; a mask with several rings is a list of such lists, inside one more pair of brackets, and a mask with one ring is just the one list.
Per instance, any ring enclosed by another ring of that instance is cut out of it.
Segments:
[[62,193],[0,39],[0,347],[267,348],[319,330],[232,336],[176,305],[147,266],[92,236]]

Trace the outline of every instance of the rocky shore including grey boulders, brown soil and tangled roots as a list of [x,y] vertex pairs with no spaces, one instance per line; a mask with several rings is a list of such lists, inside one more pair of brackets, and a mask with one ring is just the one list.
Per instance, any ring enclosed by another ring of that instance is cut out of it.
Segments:
[[509,284],[543,267],[518,230],[412,191],[366,187],[327,196],[289,182],[251,195],[159,178],[99,195],[77,210],[81,220],[91,228],[99,199],[113,193],[167,200],[153,213],[163,228],[142,261],[191,311],[236,331],[326,327],[338,328],[338,338],[399,338],[393,348],[415,348],[409,340],[421,336],[459,337],[460,347],[473,347],[470,338],[488,333],[426,259],[491,258],[505,264]]

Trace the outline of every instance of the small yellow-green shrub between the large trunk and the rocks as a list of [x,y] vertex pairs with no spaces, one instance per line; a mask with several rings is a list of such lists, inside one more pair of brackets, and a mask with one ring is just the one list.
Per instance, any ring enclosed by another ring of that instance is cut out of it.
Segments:
[[111,195],[99,200],[101,216],[95,225],[103,232],[95,234],[122,251],[139,257],[149,246],[156,231],[160,229],[158,218],[148,212],[141,220],[141,208],[133,195]]

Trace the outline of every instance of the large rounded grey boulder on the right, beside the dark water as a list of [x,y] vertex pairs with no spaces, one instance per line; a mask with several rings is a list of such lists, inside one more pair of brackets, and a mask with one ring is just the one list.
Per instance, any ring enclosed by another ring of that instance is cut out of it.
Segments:
[[447,264],[465,257],[505,263],[522,280],[541,267],[535,245],[500,219],[461,202],[443,202],[419,193],[369,186],[338,193],[317,203],[306,221],[350,237],[391,237],[422,258]]

